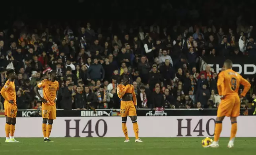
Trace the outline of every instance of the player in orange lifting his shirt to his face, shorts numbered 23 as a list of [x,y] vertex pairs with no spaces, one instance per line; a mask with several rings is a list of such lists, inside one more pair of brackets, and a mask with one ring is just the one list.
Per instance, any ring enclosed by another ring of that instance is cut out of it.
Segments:
[[121,100],[120,113],[122,117],[122,130],[124,132],[124,136],[126,140],[124,142],[130,142],[128,137],[128,131],[126,127],[127,116],[129,115],[132,124],[133,130],[135,133],[135,142],[142,142],[139,138],[139,127],[137,123],[137,99],[136,94],[134,92],[133,85],[129,84],[130,78],[128,76],[123,77],[123,83],[117,86],[117,95]]

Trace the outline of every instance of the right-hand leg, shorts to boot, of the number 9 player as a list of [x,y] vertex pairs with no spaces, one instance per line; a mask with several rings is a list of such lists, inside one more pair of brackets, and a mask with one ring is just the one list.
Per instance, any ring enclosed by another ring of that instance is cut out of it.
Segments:
[[231,135],[230,135],[230,140],[228,147],[234,147],[234,141],[235,141],[235,136],[237,134],[237,117],[240,115],[240,98],[239,96],[234,96],[235,98],[235,103],[231,112]]

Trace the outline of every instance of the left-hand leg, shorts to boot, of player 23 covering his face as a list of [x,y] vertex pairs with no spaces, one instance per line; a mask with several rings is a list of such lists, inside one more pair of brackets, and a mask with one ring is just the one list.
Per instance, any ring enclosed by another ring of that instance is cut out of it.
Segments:
[[125,136],[124,142],[130,142],[129,137],[128,137],[128,130],[126,127],[126,121],[127,121],[127,115],[128,115],[127,102],[121,101],[120,113],[121,113],[121,117],[122,117],[122,130],[123,130],[124,136]]

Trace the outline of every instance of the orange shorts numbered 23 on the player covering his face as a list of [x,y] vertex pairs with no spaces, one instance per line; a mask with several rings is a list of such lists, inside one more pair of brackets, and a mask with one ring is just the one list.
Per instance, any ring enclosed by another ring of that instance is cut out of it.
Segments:
[[121,117],[137,116],[136,108],[132,101],[121,101],[120,113]]

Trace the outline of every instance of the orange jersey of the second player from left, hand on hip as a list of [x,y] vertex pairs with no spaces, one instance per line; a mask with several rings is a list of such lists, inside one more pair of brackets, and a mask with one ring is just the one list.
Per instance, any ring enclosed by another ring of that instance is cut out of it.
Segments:
[[59,90],[58,81],[50,81],[50,79],[44,79],[38,85],[39,88],[43,88],[43,98],[45,98],[51,106],[53,106],[56,98],[56,92]]

